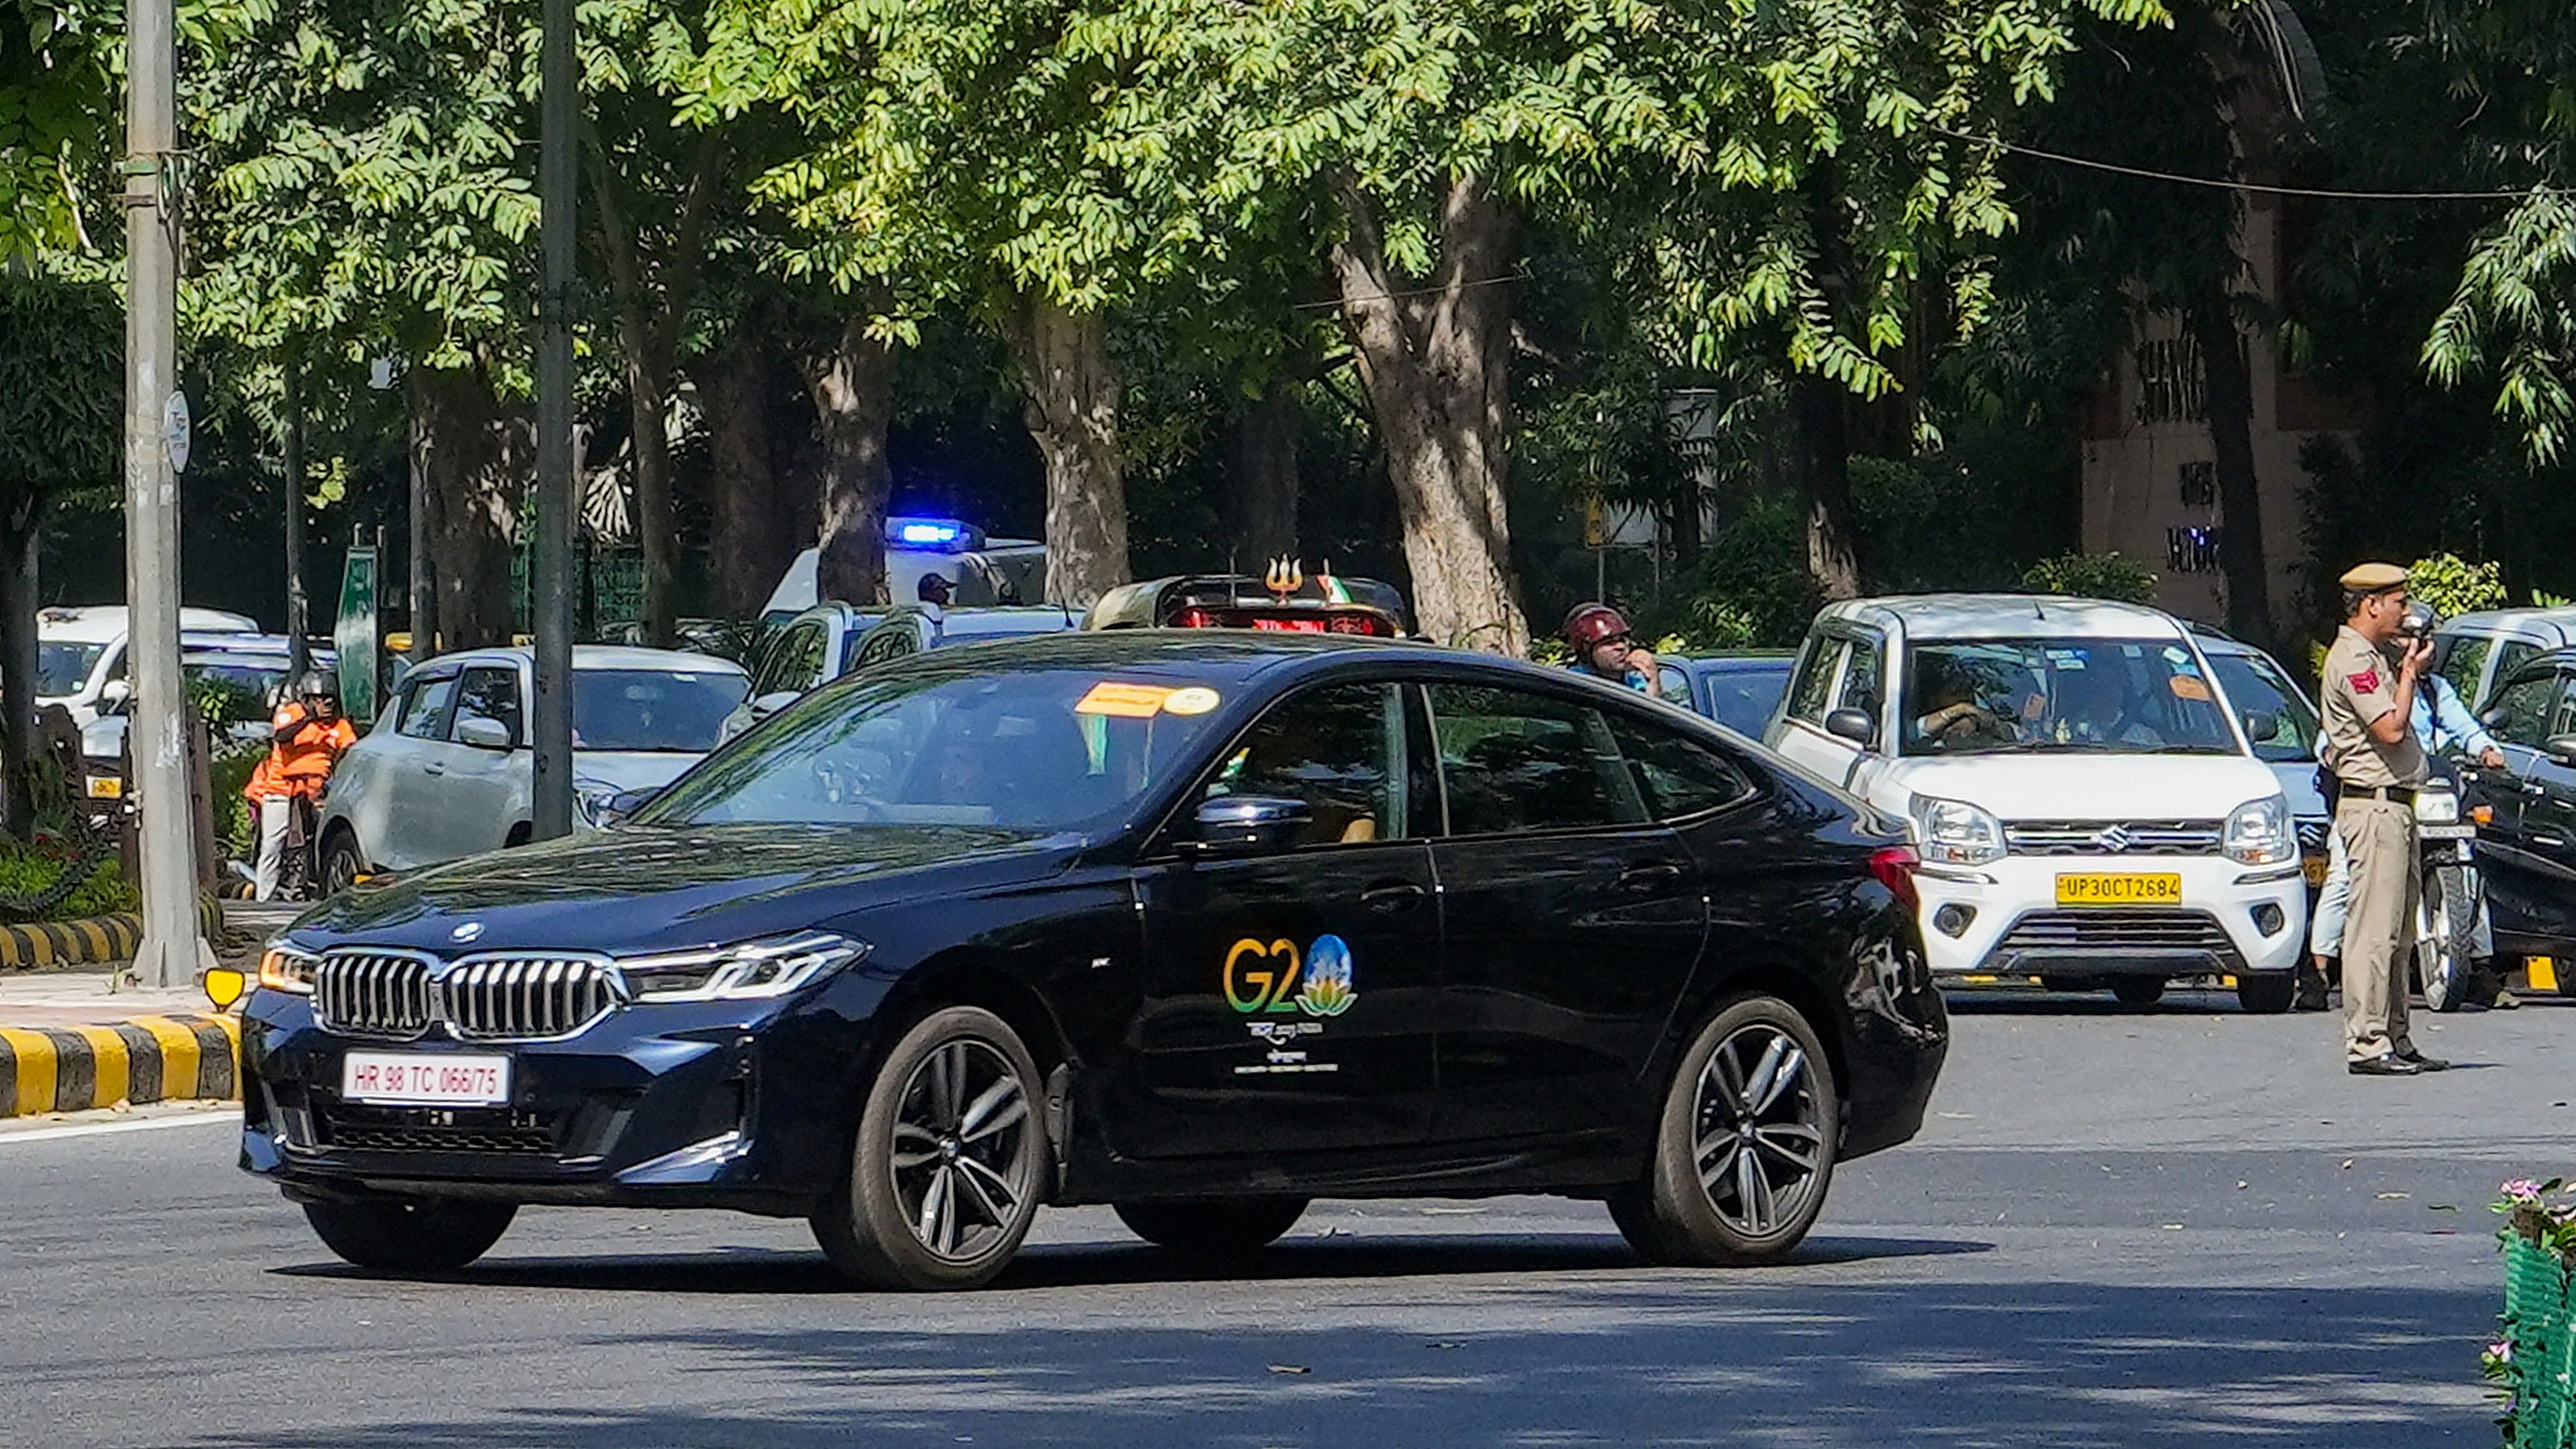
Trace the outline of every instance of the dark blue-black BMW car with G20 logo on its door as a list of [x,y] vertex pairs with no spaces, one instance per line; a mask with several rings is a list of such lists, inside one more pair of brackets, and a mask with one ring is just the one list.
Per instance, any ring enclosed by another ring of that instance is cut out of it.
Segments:
[[242,1166],[343,1259],[518,1204],[809,1217],[974,1287],[1038,1204],[1242,1253],[1314,1197],[1592,1197],[1757,1264],[1947,1045],[1904,834],[1633,692],[1141,631],[806,695],[613,831],[348,891],[245,1009]]

